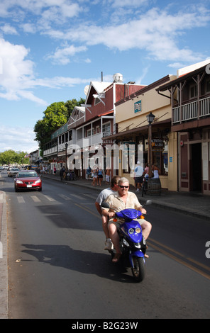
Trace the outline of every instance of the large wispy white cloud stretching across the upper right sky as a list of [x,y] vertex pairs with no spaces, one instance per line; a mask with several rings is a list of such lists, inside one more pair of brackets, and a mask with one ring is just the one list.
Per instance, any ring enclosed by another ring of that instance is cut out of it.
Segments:
[[[87,45],[104,44],[110,49],[120,51],[133,48],[146,50],[155,60],[194,62],[202,59],[203,56],[199,51],[195,53],[187,47],[179,47],[179,35],[185,30],[204,26],[209,21],[209,13],[205,11],[172,15],[167,11],[151,9],[140,18],[118,26],[107,24],[104,27],[85,23],[78,28],[67,30],[66,33],[63,32],[60,38],[80,41]],[[45,33],[55,36],[54,30]],[[57,37],[59,37],[58,34]]]

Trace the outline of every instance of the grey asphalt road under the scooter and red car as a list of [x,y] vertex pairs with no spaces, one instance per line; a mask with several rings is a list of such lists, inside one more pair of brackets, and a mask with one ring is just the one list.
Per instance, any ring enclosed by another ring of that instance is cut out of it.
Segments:
[[96,191],[43,179],[43,191],[6,191],[9,318],[209,318],[209,222],[148,206],[146,276],[104,251]]

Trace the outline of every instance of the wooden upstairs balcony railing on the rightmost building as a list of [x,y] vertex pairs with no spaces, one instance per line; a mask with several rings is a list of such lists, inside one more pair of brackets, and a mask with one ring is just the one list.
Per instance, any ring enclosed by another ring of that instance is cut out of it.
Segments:
[[[203,98],[200,103],[200,117],[210,115],[210,97]],[[182,108],[182,113],[180,112]],[[182,123],[182,121],[192,120],[198,118],[198,102],[184,104],[172,108],[172,123]]]

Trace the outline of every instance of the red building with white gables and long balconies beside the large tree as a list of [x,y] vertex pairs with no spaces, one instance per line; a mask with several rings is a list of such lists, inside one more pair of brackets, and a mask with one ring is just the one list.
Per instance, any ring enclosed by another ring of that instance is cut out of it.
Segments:
[[134,82],[124,84],[119,73],[114,74],[113,82],[90,82],[84,89],[85,104],[74,108],[68,122],[45,145],[44,157],[51,171],[54,165],[59,170],[65,164],[67,169],[77,169],[78,176],[85,177],[90,162],[91,166],[102,164],[105,169],[104,147],[110,140],[102,138],[116,131],[115,103],[143,87]]

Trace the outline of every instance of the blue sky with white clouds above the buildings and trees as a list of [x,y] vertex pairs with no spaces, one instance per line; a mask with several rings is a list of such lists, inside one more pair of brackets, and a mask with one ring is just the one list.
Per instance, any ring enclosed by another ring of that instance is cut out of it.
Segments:
[[50,104],[90,81],[148,85],[210,62],[209,0],[0,0],[0,152],[38,149]]

